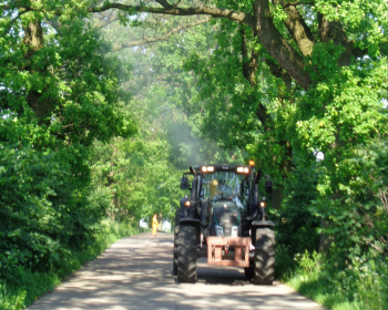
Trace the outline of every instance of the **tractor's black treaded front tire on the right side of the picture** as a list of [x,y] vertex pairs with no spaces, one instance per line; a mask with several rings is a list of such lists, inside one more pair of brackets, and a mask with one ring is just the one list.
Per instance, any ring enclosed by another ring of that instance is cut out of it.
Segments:
[[256,229],[254,282],[272,286],[275,266],[275,231],[269,228]]

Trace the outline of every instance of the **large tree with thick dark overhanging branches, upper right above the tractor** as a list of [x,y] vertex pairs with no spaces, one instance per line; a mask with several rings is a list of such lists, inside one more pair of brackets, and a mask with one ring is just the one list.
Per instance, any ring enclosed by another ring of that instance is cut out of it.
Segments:
[[[41,20],[51,22],[67,13],[69,3],[7,2],[1,7],[8,17],[4,38],[25,16],[41,14]],[[211,53],[204,56],[204,50],[193,51],[183,64],[197,82],[197,96],[186,111],[201,102],[200,112],[193,114],[202,117],[202,132],[211,132],[208,125],[216,121],[223,131],[211,134],[226,146],[259,154],[262,166],[272,170],[278,185],[295,165],[308,168],[315,162],[313,152],[323,152],[318,189],[335,202],[328,209],[335,216],[356,177],[346,164],[354,157],[353,149],[387,137],[388,25],[382,0],[84,1],[75,11],[89,19],[114,12],[113,19],[147,28],[146,33],[164,25],[171,29],[151,41],[165,40],[174,29],[184,28],[166,16],[192,17],[183,20],[187,27],[204,25],[198,16],[211,17],[208,23],[216,34],[213,41],[206,38],[213,44],[207,49]],[[39,39],[38,23],[28,25],[25,33],[37,33],[32,37]],[[133,44],[119,42],[116,51]],[[38,108],[35,114],[40,114]],[[324,207],[325,199],[319,204]]]

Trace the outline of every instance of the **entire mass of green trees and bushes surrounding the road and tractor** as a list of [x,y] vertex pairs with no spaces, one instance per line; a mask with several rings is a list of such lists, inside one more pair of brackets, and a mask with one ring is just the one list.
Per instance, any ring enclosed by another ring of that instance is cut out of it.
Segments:
[[171,219],[182,169],[249,157],[278,276],[382,309],[385,1],[169,2],[0,6],[2,276],[58,265],[106,214]]

